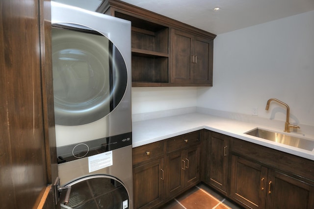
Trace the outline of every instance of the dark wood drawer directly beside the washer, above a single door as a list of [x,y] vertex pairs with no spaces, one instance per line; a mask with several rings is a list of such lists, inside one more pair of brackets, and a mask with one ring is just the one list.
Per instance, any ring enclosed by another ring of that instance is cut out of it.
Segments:
[[132,164],[136,165],[143,161],[163,155],[163,141],[146,144],[132,149]]

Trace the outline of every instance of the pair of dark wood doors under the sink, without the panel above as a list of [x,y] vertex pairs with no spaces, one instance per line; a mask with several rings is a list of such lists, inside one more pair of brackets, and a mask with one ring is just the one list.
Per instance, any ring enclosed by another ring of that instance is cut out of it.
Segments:
[[314,185],[232,156],[231,197],[252,209],[313,209]]

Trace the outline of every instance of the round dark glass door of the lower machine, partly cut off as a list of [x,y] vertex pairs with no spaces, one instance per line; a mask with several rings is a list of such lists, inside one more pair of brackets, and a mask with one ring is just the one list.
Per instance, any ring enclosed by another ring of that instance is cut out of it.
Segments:
[[[124,184],[111,176],[96,175],[69,183],[69,204],[61,209],[129,209],[129,195]],[[62,192],[63,203],[66,192]]]

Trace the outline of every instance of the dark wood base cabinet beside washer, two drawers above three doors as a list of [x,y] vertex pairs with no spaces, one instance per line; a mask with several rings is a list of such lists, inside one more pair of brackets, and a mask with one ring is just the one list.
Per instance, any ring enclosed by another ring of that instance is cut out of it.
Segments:
[[160,208],[200,182],[200,131],[132,150],[134,209]]

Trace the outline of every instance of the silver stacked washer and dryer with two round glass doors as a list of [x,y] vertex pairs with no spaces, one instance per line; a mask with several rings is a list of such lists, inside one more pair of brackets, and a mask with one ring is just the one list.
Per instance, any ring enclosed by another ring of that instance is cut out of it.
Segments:
[[131,23],[52,1],[52,69],[61,208],[132,209]]

